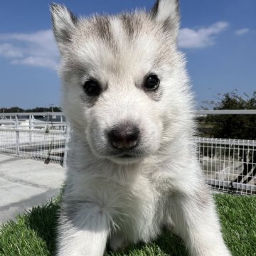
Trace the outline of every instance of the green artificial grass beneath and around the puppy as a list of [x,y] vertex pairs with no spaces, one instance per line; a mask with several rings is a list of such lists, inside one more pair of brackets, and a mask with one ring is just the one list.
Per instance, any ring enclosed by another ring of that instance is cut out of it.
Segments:
[[[256,197],[215,195],[225,242],[233,256],[255,256]],[[16,221],[1,226],[1,256],[47,256],[55,252],[55,229],[60,198],[37,206]],[[176,235],[165,231],[148,245],[130,246],[125,252],[106,252],[105,256],[188,256]]]

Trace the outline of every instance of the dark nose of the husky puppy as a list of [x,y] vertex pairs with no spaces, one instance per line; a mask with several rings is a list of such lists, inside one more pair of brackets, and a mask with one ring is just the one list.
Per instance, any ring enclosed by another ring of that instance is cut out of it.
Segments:
[[139,129],[134,125],[122,124],[108,132],[110,144],[115,149],[132,149],[139,140]]

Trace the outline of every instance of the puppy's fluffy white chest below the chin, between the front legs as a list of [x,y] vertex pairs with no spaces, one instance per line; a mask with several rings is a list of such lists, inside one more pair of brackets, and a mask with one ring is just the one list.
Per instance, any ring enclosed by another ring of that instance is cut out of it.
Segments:
[[[78,188],[78,186],[76,187]],[[80,186],[87,201],[99,205],[112,216],[122,232],[142,235],[149,240],[159,230],[163,220],[163,196],[149,176],[137,175],[129,181],[95,178]],[[132,239],[132,238],[131,238]]]

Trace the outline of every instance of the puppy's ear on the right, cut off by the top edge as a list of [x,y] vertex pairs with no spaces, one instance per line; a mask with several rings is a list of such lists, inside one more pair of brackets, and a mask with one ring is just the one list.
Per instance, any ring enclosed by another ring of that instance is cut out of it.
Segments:
[[161,23],[165,31],[169,31],[176,40],[180,26],[178,0],[157,0],[151,9],[151,16]]

